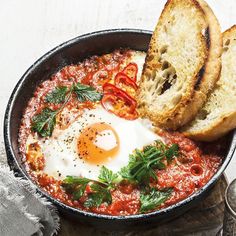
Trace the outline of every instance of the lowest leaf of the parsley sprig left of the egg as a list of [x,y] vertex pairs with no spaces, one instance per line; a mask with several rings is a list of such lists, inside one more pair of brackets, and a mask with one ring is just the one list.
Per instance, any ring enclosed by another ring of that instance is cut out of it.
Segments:
[[56,124],[57,111],[50,108],[44,108],[41,113],[32,118],[32,130],[39,133],[42,137],[52,135],[52,131]]

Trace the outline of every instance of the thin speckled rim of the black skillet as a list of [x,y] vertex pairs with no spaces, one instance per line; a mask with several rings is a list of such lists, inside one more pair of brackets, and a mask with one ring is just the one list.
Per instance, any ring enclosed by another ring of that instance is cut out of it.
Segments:
[[236,130],[233,131],[228,155],[225,157],[224,162],[222,163],[221,167],[218,169],[216,174],[200,190],[198,190],[197,192],[195,192],[194,194],[192,194],[188,198],[186,198],[174,205],[171,205],[167,208],[164,208],[164,209],[161,209],[158,211],[154,211],[154,212],[150,212],[150,213],[146,213],[146,214],[129,215],[129,216],[110,216],[110,215],[86,212],[86,211],[83,211],[83,210],[80,210],[77,208],[70,207],[70,206],[56,200],[55,198],[51,197],[48,193],[41,190],[41,188],[39,186],[37,186],[32,181],[32,179],[26,174],[25,170],[23,168],[21,168],[16,157],[14,156],[14,152],[13,152],[13,148],[12,148],[11,140],[10,140],[10,117],[11,117],[11,112],[13,109],[13,104],[16,99],[16,95],[20,92],[22,83],[24,82],[24,80],[27,79],[27,76],[31,73],[31,71],[34,70],[35,67],[39,66],[42,61],[44,61],[48,57],[52,56],[54,53],[56,53],[60,49],[63,49],[67,46],[71,46],[75,43],[78,43],[78,41],[80,41],[80,40],[86,40],[87,38],[97,37],[97,36],[107,35],[107,34],[109,35],[109,34],[114,34],[114,33],[133,33],[133,34],[149,34],[149,35],[151,35],[152,31],[141,30],[141,29],[120,28],[120,29],[101,30],[101,31],[96,31],[96,32],[84,34],[84,35],[75,37],[73,39],[70,39],[70,40],[56,46],[52,50],[45,53],[42,57],[40,57],[34,64],[32,64],[27,69],[27,71],[24,73],[24,75],[21,77],[21,79],[16,84],[16,86],[9,98],[9,101],[7,103],[7,108],[6,108],[5,117],[4,117],[4,142],[5,142],[5,147],[6,147],[6,153],[7,153],[9,165],[16,166],[16,168],[13,169],[14,171],[17,171],[17,172],[20,171],[20,174],[22,174],[24,178],[29,180],[36,187],[37,191],[40,194],[42,194],[43,196],[48,198],[53,204],[61,207],[62,209],[66,210],[66,211],[70,211],[71,213],[79,214],[84,217],[89,217],[89,218],[94,218],[94,219],[103,219],[103,220],[113,220],[113,221],[114,220],[115,221],[132,221],[132,220],[137,220],[137,219],[148,219],[148,218],[153,218],[155,216],[165,215],[167,213],[170,213],[171,211],[174,211],[174,210],[177,210],[177,209],[183,207],[184,205],[187,205],[189,202],[193,201],[194,199],[200,198],[203,192],[207,191],[207,189],[211,188],[214,185],[214,183],[223,174],[223,171],[228,166],[230,160],[233,157],[233,154],[234,154],[234,151],[236,148]]

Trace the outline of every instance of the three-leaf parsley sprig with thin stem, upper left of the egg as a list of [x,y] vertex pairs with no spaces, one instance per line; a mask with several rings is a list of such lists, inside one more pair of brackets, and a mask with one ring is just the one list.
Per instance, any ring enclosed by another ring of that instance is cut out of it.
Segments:
[[73,84],[70,89],[65,86],[56,87],[52,92],[46,95],[45,102],[54,104],[63,102],[63,104],[57,110],[51,110],[50,108],[45,107],[42,112],[36,114],[32,118],[32,130],[42,137],[51,136],[56,125],[56,115],[66,106],[72,93],[77,95],[80,102],[88,100],[94,102],[102,98],[101,93],[97,92],[94,88],[81,83]]

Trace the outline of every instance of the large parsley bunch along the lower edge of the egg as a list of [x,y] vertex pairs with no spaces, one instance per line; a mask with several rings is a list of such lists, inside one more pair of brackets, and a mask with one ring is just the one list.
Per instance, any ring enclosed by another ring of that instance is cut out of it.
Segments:
[[[130,155],[129,163],[120,172],[113,173],[102,166],[98,180],[83,177],[67,176],[62,183],[65,191],[72,195],[74,200],[79,200],[86,192],[84,207],[99,207],[102,203],[111,204],[111,191],[116,189],[117,184],[123,180],[135,183],[140,191],[140,213],[151,211],[164,203],[172,193],[172,188],[155,189],[150,186],[150,179],[157,181],[156,171],[166,168],[174,157],[178,156],[178,145],[170,147],[161,141],[154,145],[144,147],[143,150],[136,149]],[[167,164],[166,164],[167,163]]]

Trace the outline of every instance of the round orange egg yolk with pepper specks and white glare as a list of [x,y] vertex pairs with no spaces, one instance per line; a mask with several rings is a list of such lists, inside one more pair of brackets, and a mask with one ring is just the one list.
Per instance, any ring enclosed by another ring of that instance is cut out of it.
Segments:
[[101,122],[87,126],[77,140],[78,155],[86,162],[102,164],[116,156],[119,137],[108,124]]

